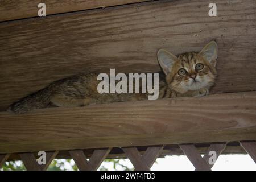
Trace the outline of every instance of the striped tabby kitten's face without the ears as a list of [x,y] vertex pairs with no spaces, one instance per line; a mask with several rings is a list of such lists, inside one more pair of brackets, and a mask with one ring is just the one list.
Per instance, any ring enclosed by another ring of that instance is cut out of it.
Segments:
[[189,52],[177,57],[172,70],[166,75],[170,88],[179,93],[210,88],[214,84],[216,69],[203,56]]

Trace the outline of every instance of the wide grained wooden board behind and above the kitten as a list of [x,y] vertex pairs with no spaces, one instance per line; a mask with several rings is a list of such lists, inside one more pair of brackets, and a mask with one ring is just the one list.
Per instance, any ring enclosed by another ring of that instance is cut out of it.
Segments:
[[219,50],[211,93],[256,90],[255,1],[214,1],[217,17],[208,16],[210,2],[159,1],[1,23],[0,110],[77,73],[157,72],[158,49],[200,51],[212,39]]

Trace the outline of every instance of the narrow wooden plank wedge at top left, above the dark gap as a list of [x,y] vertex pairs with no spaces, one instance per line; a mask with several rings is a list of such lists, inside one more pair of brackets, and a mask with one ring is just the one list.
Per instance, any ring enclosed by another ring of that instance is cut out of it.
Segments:
[[72,11],[95,9],[99,7],[124,5],[128,3],[142,2],[142,0],[1,0],[0,22],[6,20],[36,17],[38,16],[39,10],[38,4],[41,2],[46,4],[46,14],[51,15]]

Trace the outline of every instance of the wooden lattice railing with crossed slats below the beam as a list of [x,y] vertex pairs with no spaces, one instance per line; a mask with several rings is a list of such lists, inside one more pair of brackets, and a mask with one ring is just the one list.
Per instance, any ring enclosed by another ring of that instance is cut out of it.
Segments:
[[[240,142],[242,148],[251,156],[256,163],[256,142]],[[148,147],[143,154],[138,151],[137,147],[122,147],[128,159],[130,159],[135,170],[137,171],[149,171],[155,160],[162,152],[164,146]],[[195,170],[210,170],[214,163],[209,163],[210,151],[216,152],[216,160],[220,156],[221,152],[226,147],[226,142],[212,143],[205,151],[205,155],[202,158],[200,152],[197,150],[194,144],[179,144],[179,147],[183,153],[188,157],[190,162],[195,167]],[[104,159],[107,158],[112,148],[94,150],[89,160],[86,158],[84,151],[71,150],[69,154],[75,161],[77,167],[81,171],[94,171],[100,167]],[[32,152],[20,153],[20,159],[24,163],[27,170],[44,171],[47,170],[49,164],[55,159],[59,151],[46,152],[46,164],[40,165],[36,161],[36,158]],[[0,154],[0,167],[8,160],[10,154]],[[215,161],[216,162],[216,161]]]

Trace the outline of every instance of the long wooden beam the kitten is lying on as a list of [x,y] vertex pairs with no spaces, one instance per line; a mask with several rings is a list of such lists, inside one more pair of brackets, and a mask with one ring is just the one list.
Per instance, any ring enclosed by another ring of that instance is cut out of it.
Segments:
[[2,112],[0,154],[255,140],[255,103],[244,92]]

